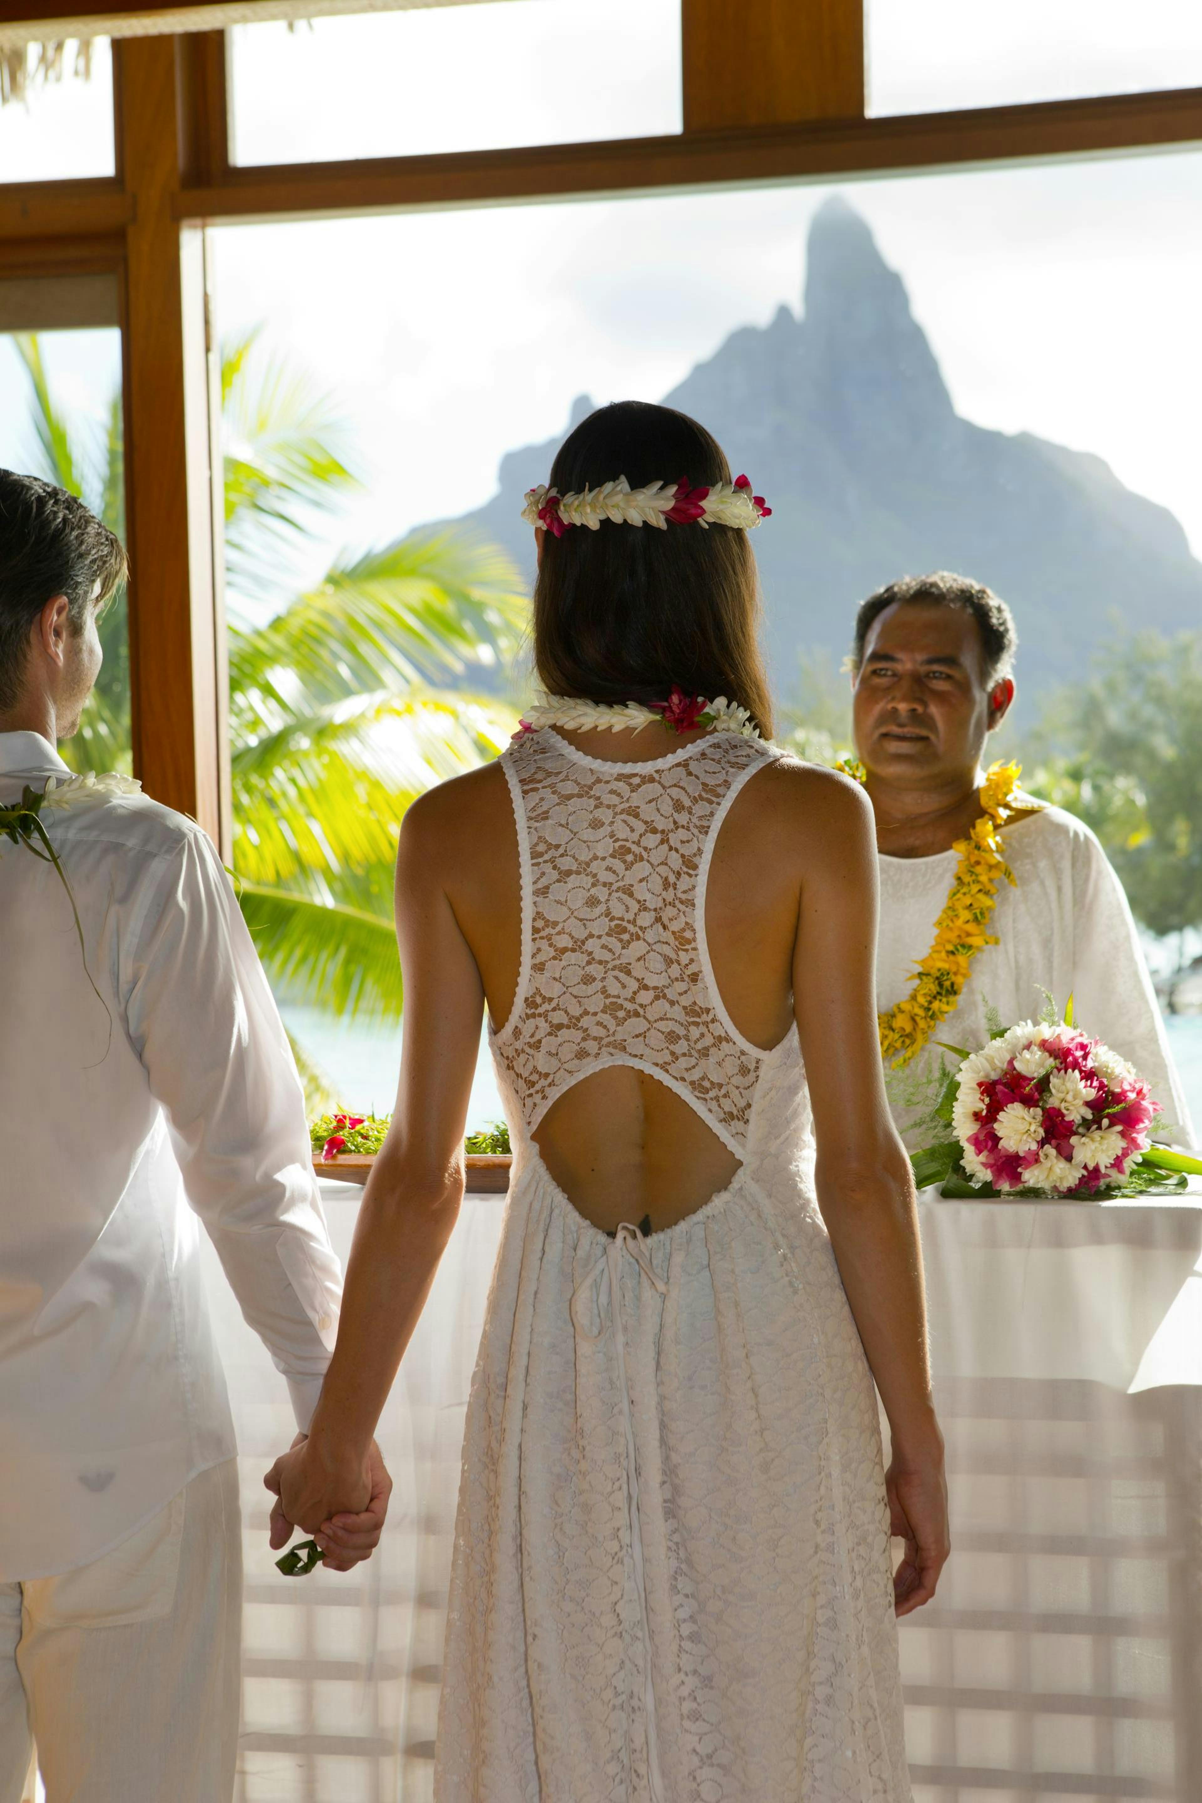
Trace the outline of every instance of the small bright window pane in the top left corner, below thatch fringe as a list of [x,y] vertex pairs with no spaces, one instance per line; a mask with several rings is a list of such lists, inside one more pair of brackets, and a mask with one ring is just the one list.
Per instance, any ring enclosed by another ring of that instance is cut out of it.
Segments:
[[0,105],[0,182],[114,175],[114,63],[108,38],[61,47],[49,70],[25,52],[25,87]]

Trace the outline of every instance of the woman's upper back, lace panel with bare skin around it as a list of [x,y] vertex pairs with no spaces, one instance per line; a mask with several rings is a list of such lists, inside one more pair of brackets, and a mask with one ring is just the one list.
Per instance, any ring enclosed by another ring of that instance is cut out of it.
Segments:
[[842,779],[661,728],[544,728],[505,763],[427,822],[499,1062],[580,1213],[670,1226],[732,1181],[762,1055],[795,1033],[804,869]]

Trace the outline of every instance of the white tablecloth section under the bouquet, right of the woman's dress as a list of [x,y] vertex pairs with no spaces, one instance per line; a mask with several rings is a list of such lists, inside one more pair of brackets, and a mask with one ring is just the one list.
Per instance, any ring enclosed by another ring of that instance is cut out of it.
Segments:
[[1202,1197],[921,1222],[953,1554],[901,1623],[915,1798],[1202,1798]]

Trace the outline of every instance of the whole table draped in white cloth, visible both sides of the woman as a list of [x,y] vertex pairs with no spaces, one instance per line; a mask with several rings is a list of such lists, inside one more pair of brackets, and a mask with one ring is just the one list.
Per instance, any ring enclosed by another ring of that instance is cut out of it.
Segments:
[[[335,1248],[362,1192],[323,1183]],[[469,1195],[380,1444],[355,1572],[283,1578],[283,1379],[209,1262],[243,1477],[240,1803],[427,1803],[467,1392],[505,1199]],[[1202,1798],[1202,1194],[921,1201],[953,1558],[901,1625],[919,1803]],[[769,1803],[769,1799],[764,1799]]]

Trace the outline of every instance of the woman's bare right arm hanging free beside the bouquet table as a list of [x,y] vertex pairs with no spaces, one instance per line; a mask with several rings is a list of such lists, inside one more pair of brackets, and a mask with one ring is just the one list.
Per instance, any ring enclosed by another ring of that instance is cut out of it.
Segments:
[[807,777],[793,1006],[815,1111],[818,1206],[888,1415],[892,1531],[908,1542],[897,1614],[908,1614],[935,1592],[948,1504],[914,1176],[888,1112],[876,1024],[876,838],[861,790],[827,772]]

